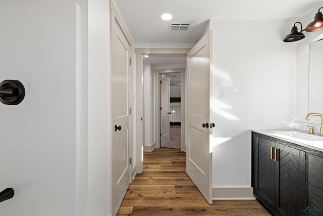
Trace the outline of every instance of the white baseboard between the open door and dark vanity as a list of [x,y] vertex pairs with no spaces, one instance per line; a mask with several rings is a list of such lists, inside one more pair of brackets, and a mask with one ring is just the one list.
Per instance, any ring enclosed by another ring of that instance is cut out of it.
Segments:
[[252,187],[213,187],[212,200],[255,200]]

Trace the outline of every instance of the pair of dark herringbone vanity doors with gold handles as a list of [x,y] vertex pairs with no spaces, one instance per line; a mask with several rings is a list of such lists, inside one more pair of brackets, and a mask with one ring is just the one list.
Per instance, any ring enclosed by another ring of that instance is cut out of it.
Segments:
[[305,152],[253,132],[253,192],[274,215],[300,215],[306,203]]

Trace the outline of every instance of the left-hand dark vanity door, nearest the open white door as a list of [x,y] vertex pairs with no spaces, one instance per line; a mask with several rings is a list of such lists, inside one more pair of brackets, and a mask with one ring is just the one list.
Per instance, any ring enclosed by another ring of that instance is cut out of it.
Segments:
[[275,160],[271,159],[271,147],[275,142],[254,137],[254,194],[275,209]]

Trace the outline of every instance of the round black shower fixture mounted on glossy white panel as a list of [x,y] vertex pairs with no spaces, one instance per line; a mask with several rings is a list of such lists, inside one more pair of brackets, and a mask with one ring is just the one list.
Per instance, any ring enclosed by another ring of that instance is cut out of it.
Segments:
[[24,97],[25,87],[20,81],[4,80],[0,83],[0,101],[3,104],[20,104]]

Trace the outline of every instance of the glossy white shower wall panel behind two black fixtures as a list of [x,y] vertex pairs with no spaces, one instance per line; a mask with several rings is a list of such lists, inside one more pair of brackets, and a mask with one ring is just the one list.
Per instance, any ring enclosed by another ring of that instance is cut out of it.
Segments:
[[0,82],[19,80],[26,93],[0,103],[0,191],[15,191],[0,215],[77,215],[84,17],[78,4],[48,2],[0,3]]

